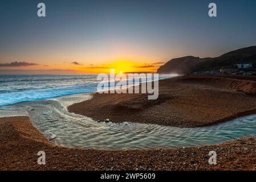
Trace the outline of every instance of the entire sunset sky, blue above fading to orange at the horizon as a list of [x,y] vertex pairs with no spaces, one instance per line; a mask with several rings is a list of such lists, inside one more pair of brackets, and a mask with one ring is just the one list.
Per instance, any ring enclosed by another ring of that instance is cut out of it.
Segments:
[[255,19],[255,0],[0,0],[0,74],[155,72],[255,46]]

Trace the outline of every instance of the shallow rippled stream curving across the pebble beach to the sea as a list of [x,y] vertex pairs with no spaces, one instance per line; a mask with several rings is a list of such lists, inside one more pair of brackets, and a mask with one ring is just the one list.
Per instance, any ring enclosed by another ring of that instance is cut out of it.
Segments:
[[23,113],[26,110],[33,125],[51,142],[62,146],[105,150],[202,146],[256,135],[256,115],[214,126],[180,128],[129,122],[98,123],[67,111],[68,105],[90,98],[90,94],[80,94],[23,102],[0,107],[0,117],[7,110]]

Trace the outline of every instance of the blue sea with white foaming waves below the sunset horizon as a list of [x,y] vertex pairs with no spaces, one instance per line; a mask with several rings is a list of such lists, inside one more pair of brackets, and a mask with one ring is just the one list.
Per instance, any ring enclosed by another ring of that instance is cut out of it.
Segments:
[[[175,75],[160,75],[159,79]],[[0,75],[0,106],[96,91],[97,75]]]

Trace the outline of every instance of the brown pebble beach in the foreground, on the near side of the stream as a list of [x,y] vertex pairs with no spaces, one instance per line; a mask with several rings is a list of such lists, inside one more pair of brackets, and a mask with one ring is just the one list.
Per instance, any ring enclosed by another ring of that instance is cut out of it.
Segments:
[[[1,170],[255,170],[256,137],[223,144],[172,150],[83,150],[56,146],[29,121],[29,117],[0,118]],[[217,152],[210,165],[209,151]],[[46,165],[37,164],[38,151]]]

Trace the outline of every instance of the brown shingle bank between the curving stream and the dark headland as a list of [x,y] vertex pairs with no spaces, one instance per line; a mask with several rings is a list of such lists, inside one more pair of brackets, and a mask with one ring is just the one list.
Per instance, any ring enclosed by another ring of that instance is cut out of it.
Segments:
[[256,113],[255,76],[190,75],[159,82],[159,98],[147,94],[94,94],[68,107],[95,121],[199,127]]

